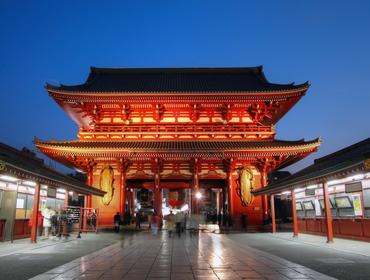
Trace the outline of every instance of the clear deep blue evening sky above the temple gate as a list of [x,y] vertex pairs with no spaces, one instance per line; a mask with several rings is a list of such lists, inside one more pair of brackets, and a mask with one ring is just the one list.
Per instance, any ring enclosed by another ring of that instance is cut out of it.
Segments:
[[309,80],[277,138],[323,144],[290,171],[370,136],[370,1],[2,0],[0,40],[0,142],[17,148],[76,138],[44,84],[81,83],[91,65],[262,64],[271,82]]

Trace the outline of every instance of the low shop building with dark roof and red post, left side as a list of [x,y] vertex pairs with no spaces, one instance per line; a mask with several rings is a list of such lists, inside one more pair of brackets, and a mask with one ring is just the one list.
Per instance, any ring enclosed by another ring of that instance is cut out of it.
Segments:
[[36,242],[41,210],[60,213],[72,201],[104,194],[49,168],[27,149],[0,143],[0,241],[31,237]]

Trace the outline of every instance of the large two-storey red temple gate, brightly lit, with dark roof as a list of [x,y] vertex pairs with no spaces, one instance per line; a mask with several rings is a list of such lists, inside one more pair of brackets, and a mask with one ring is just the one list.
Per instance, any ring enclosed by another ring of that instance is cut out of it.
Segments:
[[46,86],[78,140],[35,145],[107,192],[86,201],[100,209],[100,224],[116,212],[175,207],[260,227],[268,200],[251,191],[320,145],[275,139],[275,124],[308,87],[270,83],[262,67],[91,68],[84,84]]

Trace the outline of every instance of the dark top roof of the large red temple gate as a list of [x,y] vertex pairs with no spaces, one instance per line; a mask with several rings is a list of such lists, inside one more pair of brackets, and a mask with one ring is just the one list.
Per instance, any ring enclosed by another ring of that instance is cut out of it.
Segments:
[[80,85],[54,86],[48,90],[66,92],[273,92],[308,87],[273,84],[262,66],[237,68],[95,68]]

